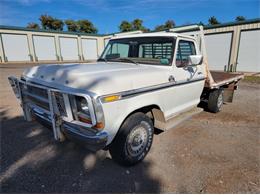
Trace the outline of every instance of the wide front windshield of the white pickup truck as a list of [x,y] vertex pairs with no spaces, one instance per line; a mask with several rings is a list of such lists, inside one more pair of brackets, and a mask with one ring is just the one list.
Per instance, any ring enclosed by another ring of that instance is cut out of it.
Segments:
[[99,61],[171,65],[173,37],[137,37],[110,40]]

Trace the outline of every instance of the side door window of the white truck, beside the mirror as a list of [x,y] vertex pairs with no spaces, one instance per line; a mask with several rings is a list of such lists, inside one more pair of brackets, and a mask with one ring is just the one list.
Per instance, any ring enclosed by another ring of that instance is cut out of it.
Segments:
[[192,41],[180,40],[176,54],[175,64],[177,67],[184,67],[188,64],[188,57],[196,55],[195,45]]

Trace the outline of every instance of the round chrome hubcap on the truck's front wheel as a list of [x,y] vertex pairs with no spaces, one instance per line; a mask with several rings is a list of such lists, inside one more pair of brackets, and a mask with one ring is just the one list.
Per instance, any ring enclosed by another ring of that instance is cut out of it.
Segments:
[[138,126],[131,131],[127,137],[127,151],[131,156],[140,155],[147,145],[147,131],[144,127]]

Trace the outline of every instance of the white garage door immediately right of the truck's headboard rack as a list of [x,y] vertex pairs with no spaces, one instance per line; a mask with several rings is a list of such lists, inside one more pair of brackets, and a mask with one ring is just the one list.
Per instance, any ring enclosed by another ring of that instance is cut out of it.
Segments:
[[232,33],[206,35],[206,50],[210,70],[225,70],[229,64]]

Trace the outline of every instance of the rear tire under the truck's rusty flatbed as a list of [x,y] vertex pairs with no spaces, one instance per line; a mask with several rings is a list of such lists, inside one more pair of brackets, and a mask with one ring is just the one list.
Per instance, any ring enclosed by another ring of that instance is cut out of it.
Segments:
[[208,109],[210,112],[217,113],[221,110],[224,103],[223,89],[211,91],[208,99]]

